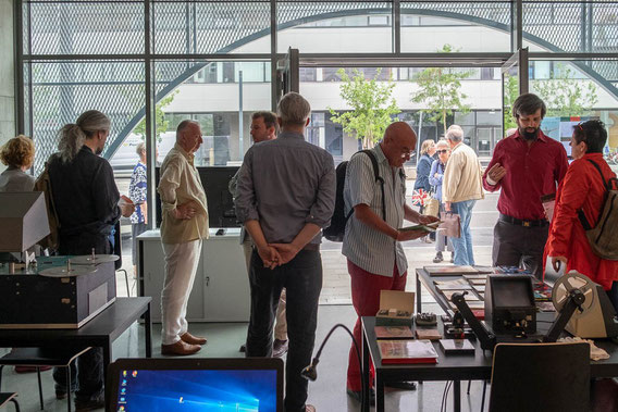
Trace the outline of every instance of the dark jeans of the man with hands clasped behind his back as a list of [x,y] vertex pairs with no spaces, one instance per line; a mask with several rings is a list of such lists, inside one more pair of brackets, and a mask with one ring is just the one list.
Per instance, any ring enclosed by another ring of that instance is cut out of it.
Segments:
[[322,290],[322,259],[319,251],[301,250],[274,270],[263,267],[258,252],[251,254],[249,272],[251,315],[247,332],[247,357],[272,355],[274,315],[286,289],[286,321],[289,350],[285,365],[285,411],[305,412],[307,379],[300,376],[311,363],[318,324],[318,300]]

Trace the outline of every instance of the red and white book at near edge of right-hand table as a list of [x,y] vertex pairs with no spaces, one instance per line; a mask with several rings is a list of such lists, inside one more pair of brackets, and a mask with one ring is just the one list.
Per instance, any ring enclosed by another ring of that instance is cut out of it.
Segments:
[[437,352],[430,340],[378,340],[383,364],[437,363]]

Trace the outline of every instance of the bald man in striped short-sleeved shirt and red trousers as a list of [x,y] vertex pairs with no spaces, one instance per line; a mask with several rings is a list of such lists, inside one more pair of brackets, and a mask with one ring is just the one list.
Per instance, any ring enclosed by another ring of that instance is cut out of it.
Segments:
[[[351,277],[351,299],[358,315],[354,336],[359,344],[360,316],[375,315],[380,309],[380,290],[404,290],[406,287],[408,262],[401,241],[427,235],[423,230],[400,230],[404,219],[421,224],[437,220],[423,216],[406,204],[404,163],[410,160],[416,146],[417,135],[410,126],[396,122],[386,128],[384,139],[371,153],[356,154],[347,165],[345,214],[351,210],[354,213],[346,225],[342,253],[347,258]],[[375,180],[370,155],[378,162],[384,190]],[[382,219],[383,209],[386,220]],[[413,384],[405,388],[412,389]],[[360,366],[354,345],[349,351],[347,392],[360,401]]]

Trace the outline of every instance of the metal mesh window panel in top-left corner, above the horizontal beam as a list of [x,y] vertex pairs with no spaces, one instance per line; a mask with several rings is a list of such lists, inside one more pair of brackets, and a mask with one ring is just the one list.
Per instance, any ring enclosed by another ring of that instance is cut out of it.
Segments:
[[144,3],[33,2],[33,54],[144,53]]

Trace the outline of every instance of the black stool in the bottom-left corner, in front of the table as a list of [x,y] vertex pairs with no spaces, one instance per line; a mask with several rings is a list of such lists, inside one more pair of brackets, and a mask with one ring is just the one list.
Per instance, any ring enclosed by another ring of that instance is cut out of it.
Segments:
[[0,358],[0,388],[2,387],[2,369],[5,365],[28,365],[36,366],[39,387],[40,409],[44,409],[42,385],[40,380],[40,366],[57,366],[66,369],[67,401],[66,407],[71,412],[71,363],[82,353],[90,348],[81,350],[64,348],[13,348],[10,353]]

